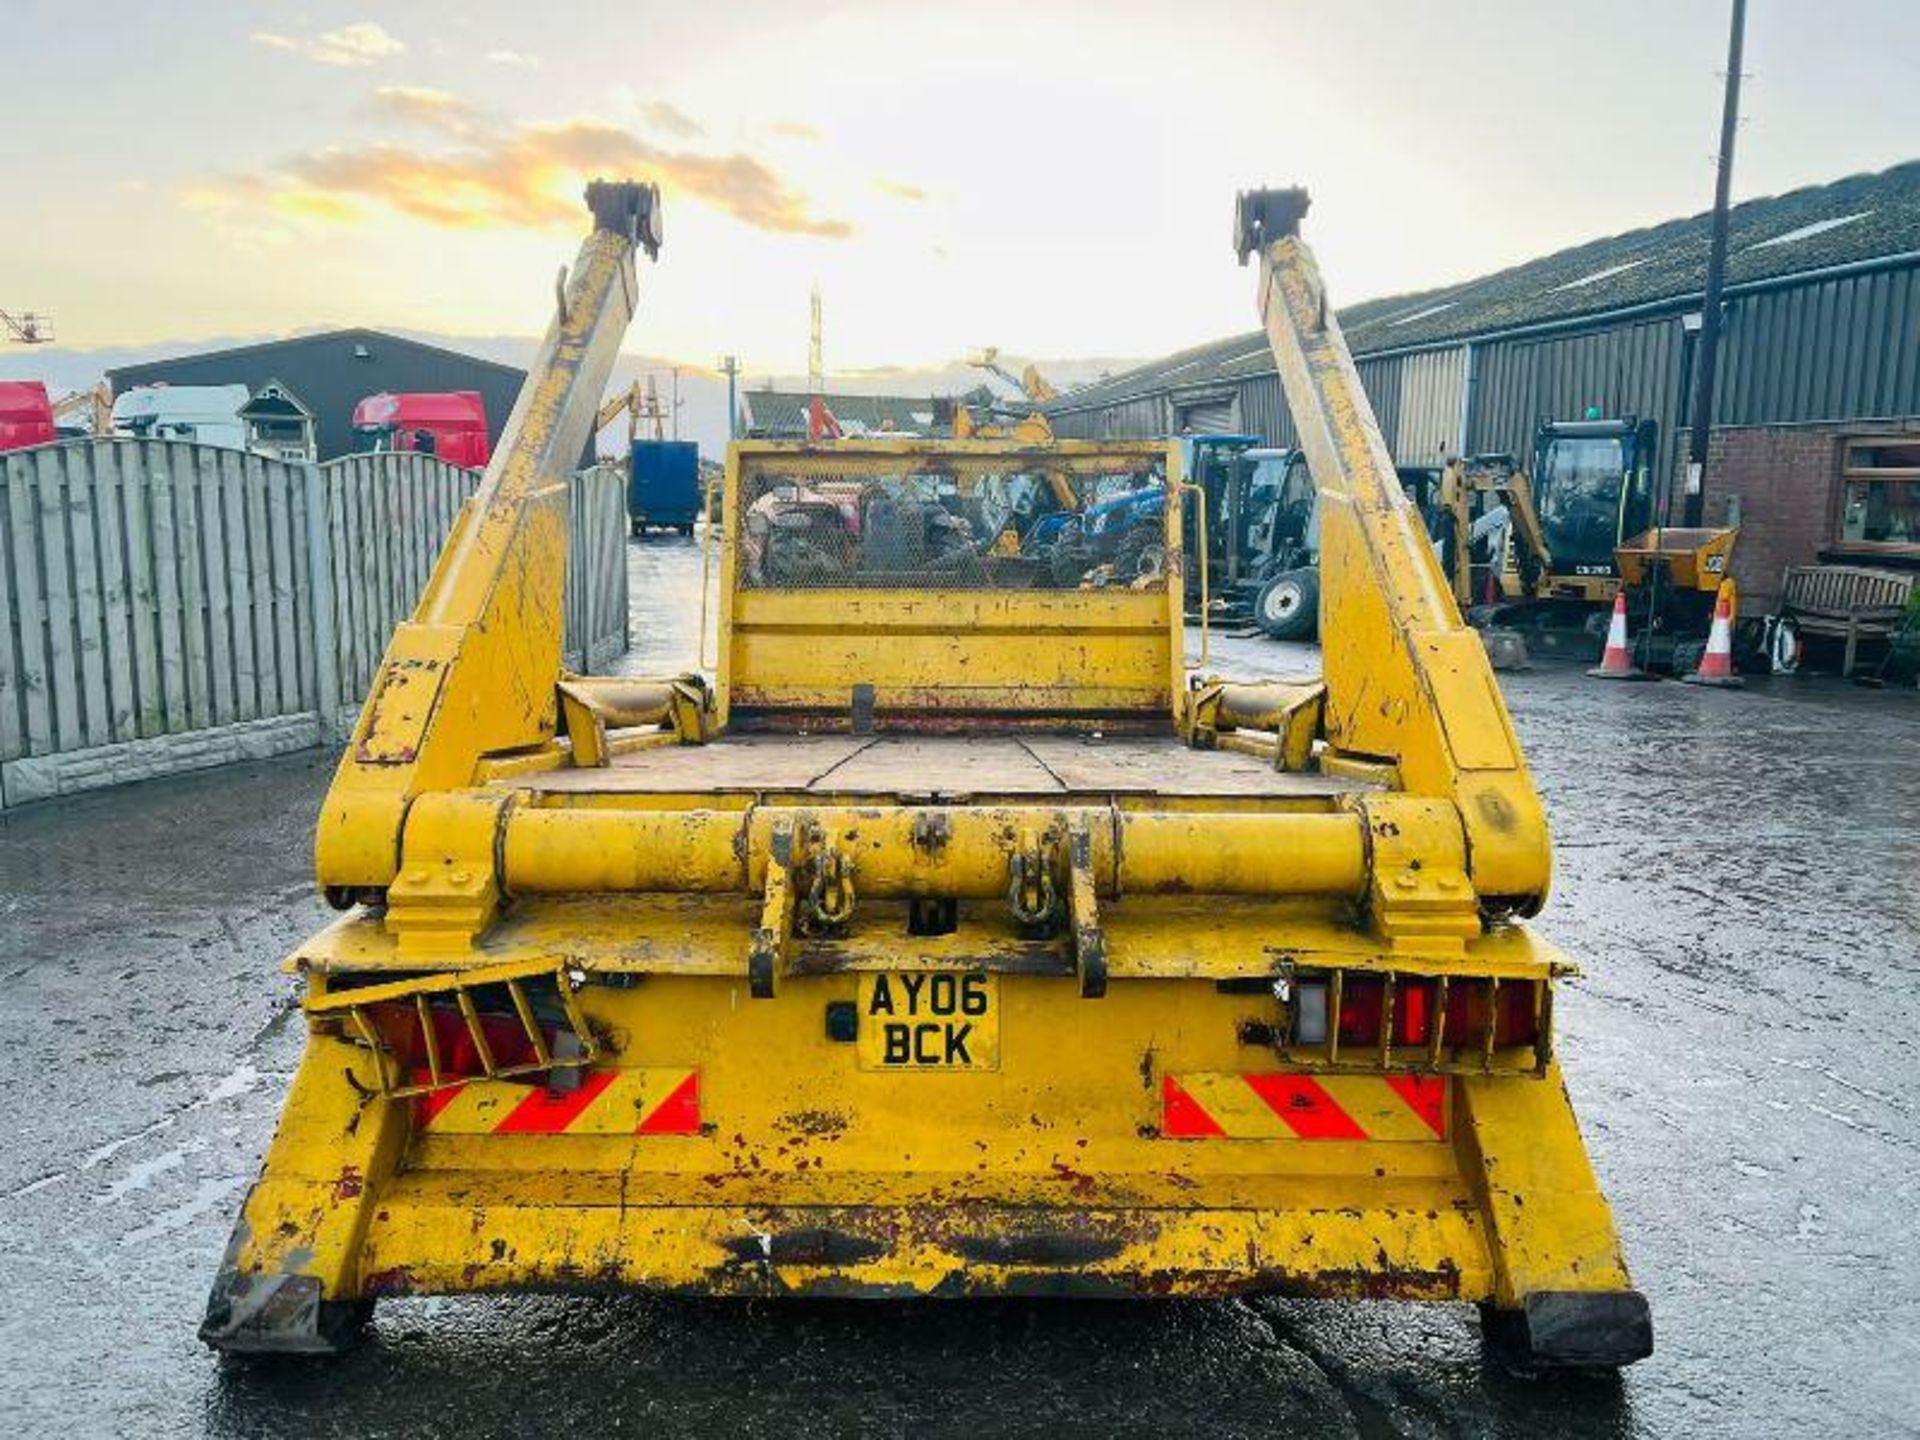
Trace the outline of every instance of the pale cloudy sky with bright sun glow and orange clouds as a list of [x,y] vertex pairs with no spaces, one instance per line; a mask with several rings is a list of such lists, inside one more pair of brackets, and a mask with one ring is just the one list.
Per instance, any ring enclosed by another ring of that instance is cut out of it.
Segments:
[[[588,175],[660,180],[630,349],[799,371],[1252,324],[1233,190],[1340,300],[1711,196],[1722,0],[4,0],[0,305],[65,346],[538,332]],[[1751,0],[1738,194],[1914,157],[1920,2]]]

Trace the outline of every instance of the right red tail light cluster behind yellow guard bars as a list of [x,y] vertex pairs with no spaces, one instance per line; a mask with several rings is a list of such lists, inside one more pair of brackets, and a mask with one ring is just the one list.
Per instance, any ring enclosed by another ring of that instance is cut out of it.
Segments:
[[[1390,1027],[1394,1046],[1432,1046],[1440,1020],[1442,1046],[1484,1048],[1492,1018],[1492,1048],[1532,1046],[1540,1041],[1538,981],[1486,977],[1409,977],[1340,973],[1298,977],[1292,985],[1294,1044],[1325,1044],[1329,1021],[1340,1046],[1377,1046]],[[1338,1016],[1331,1016],[1338,1004]],[[1388,1020],[1388,1008],[1392,1020]]]

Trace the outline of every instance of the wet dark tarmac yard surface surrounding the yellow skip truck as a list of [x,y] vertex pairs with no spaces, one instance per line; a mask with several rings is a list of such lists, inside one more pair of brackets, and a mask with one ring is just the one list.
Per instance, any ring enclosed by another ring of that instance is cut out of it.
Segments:
[[[697,549],[632,549],[630,668]],[[1215,662],[1311,655],[1215,641]],[[1505,678],[1555,826],[1557,1025],[1653,1302],[1619,1380],[1453,1306],[386,1304],[338,1363],[194,1338],[300,1050],[332,755],[0,820],[0,1419],[17,1434],[1920,1434],[1920,697]]]

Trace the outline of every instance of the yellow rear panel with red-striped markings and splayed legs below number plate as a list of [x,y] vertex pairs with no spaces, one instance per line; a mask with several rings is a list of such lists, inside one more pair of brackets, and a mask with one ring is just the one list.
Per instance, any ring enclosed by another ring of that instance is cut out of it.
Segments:
[[[593,987],[609,1054],[557,1092],[382,1096],[367,1048],[309,1033],[202,1334],[328,1350],[365,1302],[503,1290],[1290,1294],[1480,1302],[1526,1336],[1605,1311],[1563,1350],[1634,1348],[1551,1066],[1313,1075],[1246,1043],[1271,995],[1016,977],[996,1069],[881,1073],[820,1029],[852,981]],[[1596,1300],[1534,1317],[1549,1294]]]

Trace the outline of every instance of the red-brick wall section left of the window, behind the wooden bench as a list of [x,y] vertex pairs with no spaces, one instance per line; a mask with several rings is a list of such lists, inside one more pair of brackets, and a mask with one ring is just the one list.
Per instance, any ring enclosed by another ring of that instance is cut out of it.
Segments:
[[[1859,426],[1847,426],[1857,432]],[[1726,524],[1738,497],[1734,580],[1740,609],[1761,614],[1789,564],[1814,564],[1834,536],[1839,426],[1757,424],[1715,430],[1707,447],[1705,522]]]

